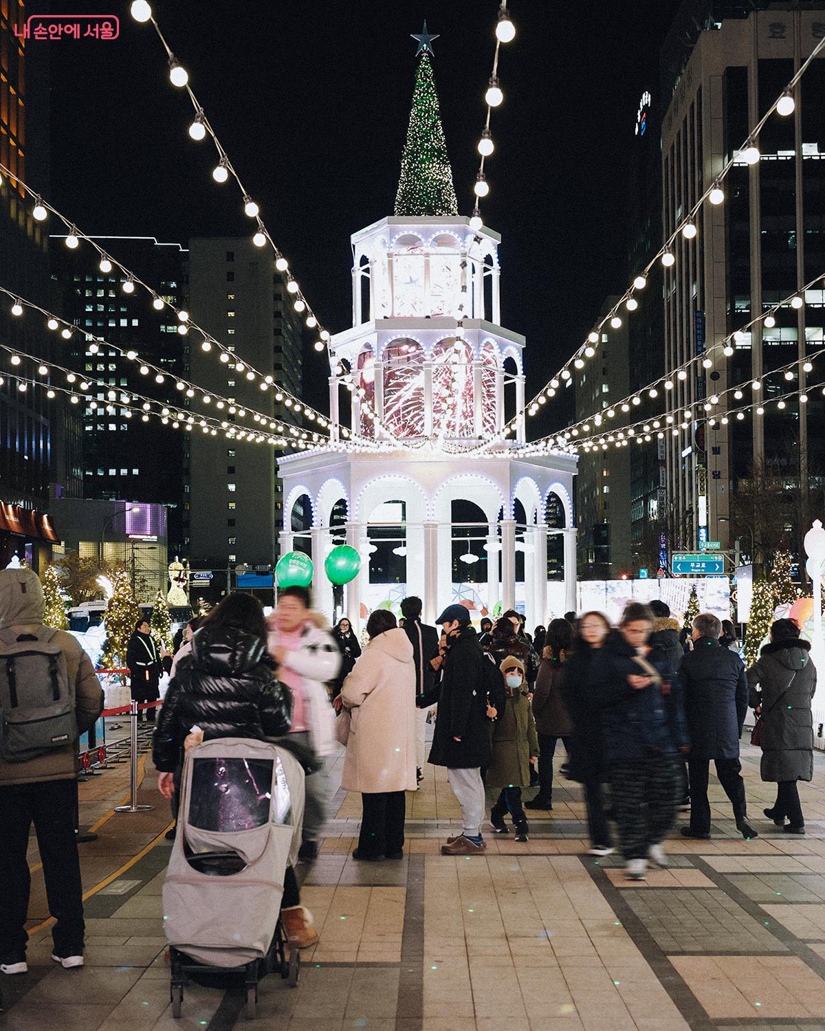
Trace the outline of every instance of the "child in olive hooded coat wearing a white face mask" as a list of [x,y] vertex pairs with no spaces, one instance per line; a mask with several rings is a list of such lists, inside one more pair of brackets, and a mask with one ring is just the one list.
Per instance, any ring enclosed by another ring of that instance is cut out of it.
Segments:
[[491,724],[493,761],[487,770],[488,788],[500,788],[490,822],[497,834],[506,834],[504,814],[509,812],[516,840],[526,841],[527,817],[522,806],[522,788],[530,785],[530,764],[538,757],[538,737],[533,710],[528,700],[524,665],[509,656],[499,666],[506,691],[504,710]]

